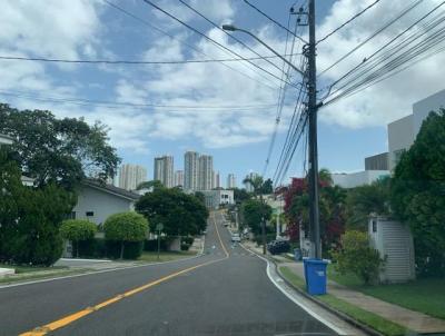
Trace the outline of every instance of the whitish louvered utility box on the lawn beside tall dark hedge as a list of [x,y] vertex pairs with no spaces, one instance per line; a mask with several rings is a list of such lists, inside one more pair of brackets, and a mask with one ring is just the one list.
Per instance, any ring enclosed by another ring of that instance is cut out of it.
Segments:
[[409,227],[387,217],[373,216],[368,225],[369,241],[385,259],[380,283],[414,280],[414,244]]

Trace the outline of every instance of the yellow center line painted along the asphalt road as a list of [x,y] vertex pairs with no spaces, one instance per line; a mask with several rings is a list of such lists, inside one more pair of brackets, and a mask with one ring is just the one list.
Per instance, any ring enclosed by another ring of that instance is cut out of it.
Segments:
[[211,264],[215,264],[215,263],[222,261],[222,260],[227,259],[229,257],[229,254],[228,254],[226,247],[224,246],[222,239],[221,239],[221,237],[219,235],[218,227],[217,227],[216,221],[215,221],[215,217],[212,217],[212,219],[214,219],[214,225],[215,225],[218,238],[219,238],[219,243],[221,244],[221,247],[222,247],[224,251],[226,253],[226,257],[225,258],[206,261],[206,263],[202,263],[202,264],[199,264],[199,265],[196,265],[196,266],[192,266],[192,267],[189,267],[189,268],[172,273],[172,274],[170,274],[168,276],[165,276],[162,278],[159,278],[159,279],[157,279],[155,281],[148,283],[148,284],[142,285],[140,287],[137,287],[137,288],[134,288],[131,290],[128,290],[128,291],[126,291],[123,294],[120,294],[120,295],[117,295],[115,297],[111,297],[111,298],[109,298],[109,299],[107,299],[107,300],[105,300],[105,302],[102,302],[102,303],[100,303],[100,304],[98,304],[98,305],[96,305],[93,307],[87,307],[87,308],[85,308],[82,310],[79,310],[77,313],[70,314],[68,316],[65,316],[65,317],[62,317],[62,318],[60,318],[58,320],[51,322],[51,323],[49,323],[49,324],[47,324],[44,326],[37,327],[33,330],[22,333],[22,334],[20,334],[20,336],[41,336],[41,335],[46,335],[46,334],[48,334],[50,332],[57,330],[59,328],[62,328],[62,327],[73,323],[73,322],[76,322],[76,320],[78,320],[78,319],[80,319],[80,318],[82,318],[82,317],[85,317],[85,316],[87,316],[87,315],[89,315],[91,313],[95,313],[95,312],[97,312],[97,310],[99,310],[99,309],[101,309],[103,307],[107,307],[107,306],[109,306],[111,304],[120,302],[122,298],[126,298],[126,297],[129,297],[131,295],[138,294],[138,293],[140,293],[140,291],[142,291],[145,289],[148,289],[150,287],[159,285],[159,284],[161,284],[164,281],[167,281],[167,280],[169,280],[171,278],[175,278],[175,277],[177,277],[177,276],[179,276],[181,274],[191,271],[191,270],[197,269],[199,267],[208,266],[208,265],[211,265]]

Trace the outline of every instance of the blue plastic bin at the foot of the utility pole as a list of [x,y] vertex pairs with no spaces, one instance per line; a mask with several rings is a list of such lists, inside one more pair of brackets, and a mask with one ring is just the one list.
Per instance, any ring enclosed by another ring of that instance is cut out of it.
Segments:
[[303,258],[305,267],[306,290],[310,295],[326,294],[326,267],[328,261]]

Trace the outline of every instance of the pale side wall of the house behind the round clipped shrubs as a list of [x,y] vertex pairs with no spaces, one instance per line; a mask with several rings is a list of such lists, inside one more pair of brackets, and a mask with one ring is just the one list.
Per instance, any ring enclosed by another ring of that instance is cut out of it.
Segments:
[[[89,219],[97,225],[103,224],[108,216],[134,209],[134,201],[111,195],[109,192],[82,186],[78,196],[78,202],[72,211],[76,219]],[[92,211],[93,216],[87,216]]]

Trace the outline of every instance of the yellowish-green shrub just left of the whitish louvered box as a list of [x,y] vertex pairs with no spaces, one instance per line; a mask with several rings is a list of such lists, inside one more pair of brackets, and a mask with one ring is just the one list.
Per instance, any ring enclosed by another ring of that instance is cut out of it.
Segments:
[[346,231],[342,236],[342,248],[332,251],[336,260],[335,269],[340,274],[353,273],[366,285],[375,283],[384,260],[378,251],[369,246],[367,233]]

